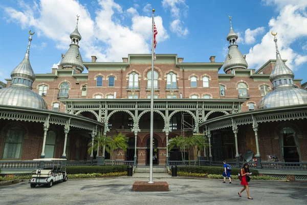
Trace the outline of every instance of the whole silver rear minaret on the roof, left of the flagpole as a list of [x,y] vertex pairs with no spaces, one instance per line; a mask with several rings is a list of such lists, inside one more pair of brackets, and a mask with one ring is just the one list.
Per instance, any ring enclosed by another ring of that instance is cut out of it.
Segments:
[[77,15],[77,26],[76,29],[70,34],[71,45],[66,54],[62,54],[62,60],[59,64],[59,69],[74,69],[76,73],[82,73],[84,66],[82,64],[83,60],[79,51],[79,42],[81,40],[81,35],[78,31],[78,20],[79,15]]

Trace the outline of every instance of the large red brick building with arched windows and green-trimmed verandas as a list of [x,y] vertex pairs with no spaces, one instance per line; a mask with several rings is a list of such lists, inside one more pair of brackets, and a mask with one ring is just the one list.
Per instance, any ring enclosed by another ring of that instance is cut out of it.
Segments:
[[[259,161],[258,167],[261,158],[262,161],[268,160],[267,155],[277,155],[281,161],[307,161],[304,149],[307,146],[307,131],[302,126],[307,117],[307,92],[301,89],[301,79],[294,79],[279,52],[279,58],[268,59],[257,70],[249,69],[245,55],[238,49],[238,36],[232,27],[227,35],[229,52],[224,63],[215,62],[215,56],[211,56],[206,63],[189,63],[177,54],[157,54],[153,79],[150,54],[128,54],[122,58],[122,62],[97,62],[97,57],[92,56],[91,62],[84,62],[79,52],[81,35],[78,28],[70,37],[70,48],[65,55],[62,54],[58,68],[52,68],[51,73],[35,75],[33,92],[46,102],[48,110],[56,114],[65,113],[67,116],[89,119],[92,120],[89,121],[91,124],[97,121],[99,124],[95,126],[102,128],[98,131],[97,128],[93,129],[93,135],[97,132],[110,136],[123,133],[129,137],[129,149],[127,152],[120,151],[118,159],[134,160],[140,165],[149,163],[149,98],[153,80],[153,154],[156,156],[153,163],[161,165],[168,160],[181,160],[178,150],[168,150],[168,139],[193,133],[205,133],[212,145],[201,152],[204,160],[236,160],[238,165],[239,161],[245,159],[242,155],[251,150]],[[222,67],[225,74],[219,73]],[[275,78],[272,81],[272,73],[280,68],[288,69],[290,74],[275,77],[276,84]],[[84,73],[84,69],[88,72]],[[284,81],[278,84],[279,79]],[[7,87],[14,84],[16,81],[13,77],[7,79]],[[271,101],[266,101],[266,96],[276,93],[274,89],[278,90],[278,86],[296,89],[292,91],[299,93],[300,97],[291,95],[293,98],[287,98],[284,104],[276,103],[273,106]],[[7,105],[4,101],[1,104]],[[264,119],[266,116],[274,120]],[[9,118],[2,120],[10,123]],[[288,123],[287,120],[292,121]],[[1,149],[7,137],[4,127],[0,128],[0,160],[4,159]],[[25,127],[28,125],[25,124]],[[31,135],[37,138],[34,141],[38,143],[38,151],[35,150],[40,153],[40,147],[46,144],[42,140],[44,131],[34,127],[29,132],[35,131]],[[63,149],[63,141],[69,140],[71,154],[67,155],[70,160],[87,160],[95,155],[112,159],[106,152],[87,155],[86,145],[91,142],[91,138],[85,134],[84,139],[76,139],[73,134],[65,139],[65,130],[60,133],[58,129],[56,126],[53,128],[57,140],[52,144],[54,147],[50,147],[54,149],[54,157],[60,157],[57,150]],[[290,136],[291,148],[283,146],[286,142],[281,139],[281,132]],[[288,158],[284,157],[285,150]],[[193,157],[192,152],[186,155]],[[23,157],[15,159],[33,157],[25,153]]]

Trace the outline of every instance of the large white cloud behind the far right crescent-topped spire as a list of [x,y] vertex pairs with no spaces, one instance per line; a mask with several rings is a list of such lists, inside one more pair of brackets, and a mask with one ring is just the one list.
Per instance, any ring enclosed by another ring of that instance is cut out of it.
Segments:
[[[307,1],[292,1],[297,5],[286,5],[289,1],[267,0],[268,4],[277,4],[279,15],[269,22],[270,31],[261,39],[261,43],[252,47],[247,54],[250,68],[259,68],[268,59],[276,58],[275,43],[271,31],[277,32],[278,48],[283,59],[288,59],[287,66],[296,69],[297,66],[307,62],[307,56],[301,55],[290,48],[301,37],[307,37],[307,15],[305,9]],[[290,3],[289,3],[290,4]]]

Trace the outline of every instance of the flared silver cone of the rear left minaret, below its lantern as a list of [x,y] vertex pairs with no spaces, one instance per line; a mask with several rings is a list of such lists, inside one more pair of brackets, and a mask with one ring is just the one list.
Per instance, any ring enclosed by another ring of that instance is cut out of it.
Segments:
[[76,44],[71,44],[67,53],[63,55],[59,66],[63,67],[76,66],[77,69],[79,69],[82,72],[84,70],[82,62],[83,60],[79,51],[79,46]]

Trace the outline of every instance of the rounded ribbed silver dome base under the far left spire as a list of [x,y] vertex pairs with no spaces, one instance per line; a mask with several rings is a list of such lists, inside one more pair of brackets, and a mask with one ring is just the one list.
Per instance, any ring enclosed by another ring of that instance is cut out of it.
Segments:
[[48,109],[46,101],[39,94],[24,86],[0,89],[0,105]]

